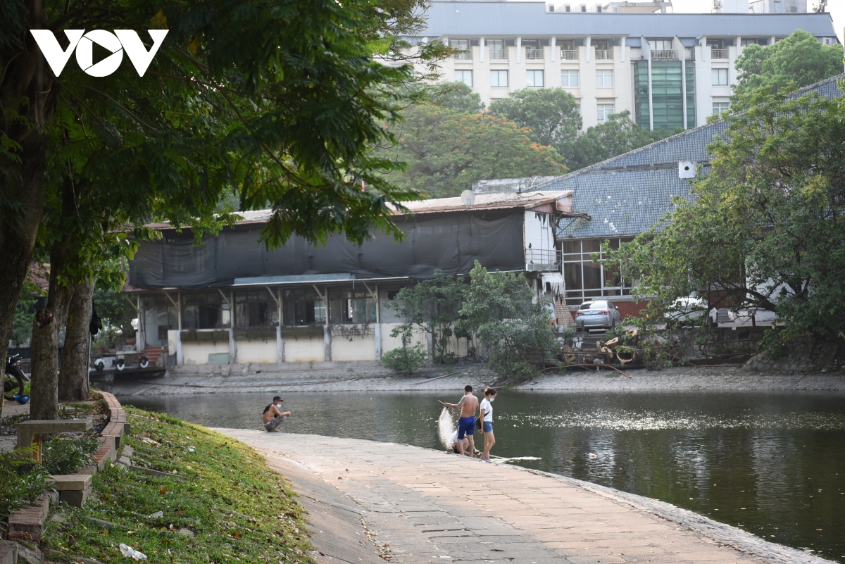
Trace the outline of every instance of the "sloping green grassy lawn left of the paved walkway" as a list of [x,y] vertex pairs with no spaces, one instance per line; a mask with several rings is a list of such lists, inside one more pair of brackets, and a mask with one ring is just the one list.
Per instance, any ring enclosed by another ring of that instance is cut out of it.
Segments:
[[263,458],[202,426],[126,411],[132,435],[124,440],[134,448],[133,464],[175,475],[106,464],[85,507],[62,506],[63,522],[50,523],[45,541],[52,550],[68,561],[132,561],[121,543],[150,562],[312,561],[303,508]]

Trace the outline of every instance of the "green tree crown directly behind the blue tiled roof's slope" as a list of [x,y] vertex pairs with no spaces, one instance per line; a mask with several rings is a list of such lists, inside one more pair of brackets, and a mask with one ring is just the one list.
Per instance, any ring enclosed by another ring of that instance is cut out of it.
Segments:
[[649,131],[640,127],[630,117],[630,111],[611,114],[604,123],[589,127],[586,132],[560,146],[566,157],[566,165],[573,171],[593,165],[602,160],[622,155],[653,143],[674,132],[657,129]]

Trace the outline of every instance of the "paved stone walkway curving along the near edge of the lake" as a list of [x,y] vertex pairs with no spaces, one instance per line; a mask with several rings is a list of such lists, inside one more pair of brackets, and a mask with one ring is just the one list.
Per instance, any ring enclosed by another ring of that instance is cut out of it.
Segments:
[[292,480],[321,564],[827,562],[668,504],[508,464],[393,443],[217,431]]

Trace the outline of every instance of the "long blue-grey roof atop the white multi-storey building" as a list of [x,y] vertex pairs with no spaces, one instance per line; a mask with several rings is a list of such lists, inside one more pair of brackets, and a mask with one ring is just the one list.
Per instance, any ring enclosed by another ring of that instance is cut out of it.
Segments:
[[428,37],[497,35],[635,35],[646,37],[786,36],[806,30],[836,37],[830,14],[618,14],[546,11],[544,2],[433,2]]

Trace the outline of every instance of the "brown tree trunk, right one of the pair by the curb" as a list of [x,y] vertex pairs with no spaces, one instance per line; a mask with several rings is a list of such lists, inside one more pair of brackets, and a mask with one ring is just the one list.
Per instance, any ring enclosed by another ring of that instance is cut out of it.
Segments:
[[58,373],[58,399],[85,400],[88,393],[88,353],[90,351],[91,302],[94,282],[74,285],[68,306],[68,325],[64,335],[62,368]]

